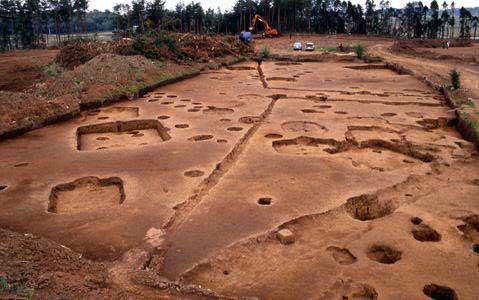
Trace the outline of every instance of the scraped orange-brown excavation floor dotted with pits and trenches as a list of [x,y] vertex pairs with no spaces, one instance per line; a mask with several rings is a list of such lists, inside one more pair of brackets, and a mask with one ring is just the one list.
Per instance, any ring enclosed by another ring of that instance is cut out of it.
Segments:
[[473,300],[479,160],[454,119],[381,66],[209,71],[2,142],[0,227],[138,298],[205,296],[154,274],[208,298]]

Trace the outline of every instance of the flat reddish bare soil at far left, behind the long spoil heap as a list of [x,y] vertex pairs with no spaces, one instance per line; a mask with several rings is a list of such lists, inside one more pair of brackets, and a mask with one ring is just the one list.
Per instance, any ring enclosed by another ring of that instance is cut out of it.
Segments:
[[55,50],[0,53],[0,91],[20,92],[44,81],[46,66],[57,53]]

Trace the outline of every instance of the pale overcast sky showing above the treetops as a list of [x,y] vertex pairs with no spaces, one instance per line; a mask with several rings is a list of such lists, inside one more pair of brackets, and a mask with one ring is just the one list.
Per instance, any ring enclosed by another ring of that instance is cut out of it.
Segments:
[[[408,0],[390,0],[392,5],[394,7],[403,7],[405,3],[408,2]],[[177,0],[166,0],[166,4],[168,8],[174,8],[177,3],[184,2],[184,3],[190,3],[191,0],[185,0],[185,1],[177,1]],[[235,3],[235,0],[195,0],[194,2],[201,2],[203,8],[214,8],[216,9],[218,6],[221,7],[222,10],[230,10],[233,7],[233,3]],[[365,0],[352,0],[351,2],[353,3],[360,3],[364,4]],[[379,0],[375,1],[379,3]],[[431,0],[424,0],[423,3],[427,3],[429,6],[429,3]],[[444,2],[443,0],[439,0],[438,3],[439,5]],[[451,0],[447,1],[448,3],[451,3]],[[99,10],[105,10],[105,9],[113,9],[113,6],[118,3],[131,3],[131,0],[90,0],[90,10],[93,9],[99,9]],[[456,0],[456,7],[475,7],[479,6],[479,1],[478,0]]]

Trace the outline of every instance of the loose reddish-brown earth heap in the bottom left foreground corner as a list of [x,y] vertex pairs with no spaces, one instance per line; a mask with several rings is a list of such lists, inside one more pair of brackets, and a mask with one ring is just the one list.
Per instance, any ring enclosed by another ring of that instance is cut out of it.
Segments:
[[118,299],[106,267],[31,234],[0,229],[1,299]]

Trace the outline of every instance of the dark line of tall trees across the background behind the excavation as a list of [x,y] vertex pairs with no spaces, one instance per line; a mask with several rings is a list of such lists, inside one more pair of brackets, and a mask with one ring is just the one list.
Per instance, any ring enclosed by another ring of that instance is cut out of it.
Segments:
[[[247,31],[260,14],[280,32],[375,34],[405,38],[471,38],[478,16],[454,2],[409,2],[402,9],[388,0],[365,0],[364,6],[340,0],[238,0],[228,11],[203,9],[200,3],[133,0],[113,10],[88,11],[88,0],[0,0],[0,49],[44,47],[72,36],[114,31],[128,37],[147,30],[196,34]],[[264,25],[255,30],[260,32]]]

